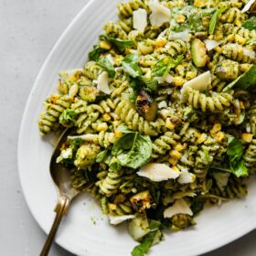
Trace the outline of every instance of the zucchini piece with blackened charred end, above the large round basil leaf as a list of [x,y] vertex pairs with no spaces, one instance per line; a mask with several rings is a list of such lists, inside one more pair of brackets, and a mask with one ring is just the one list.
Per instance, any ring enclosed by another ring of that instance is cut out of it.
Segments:
[[137,97],[136,110],[146,121],[155,121],[157,104],[145,91],[141,91]]

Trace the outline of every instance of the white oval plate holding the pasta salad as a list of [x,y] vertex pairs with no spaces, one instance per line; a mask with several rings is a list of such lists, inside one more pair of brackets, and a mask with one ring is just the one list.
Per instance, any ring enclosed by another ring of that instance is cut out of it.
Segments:
[[[81,10],[50,52],[27,101],[18,144],[19,176],[27,205],[46,232],[55,217],[57,192],[48,171],[52,147],[42,140],[37,129],[42,102],[56,91],[59,70],[82,67],[103,24],[116,18],[118,2],[92,0]],[[255,178],[251,185],[254,186],[250,186],[245,199],[206,209],[197,218],[195,228],[165,234],[165,241],[153,247],[149,255],[198,255],[255,229]],[[101,215],[100,207],[86,195],[73,202],[56,240],[66,250],[86,256],[130,255],[136,244],[127,234],[125,225],[110,226]]]

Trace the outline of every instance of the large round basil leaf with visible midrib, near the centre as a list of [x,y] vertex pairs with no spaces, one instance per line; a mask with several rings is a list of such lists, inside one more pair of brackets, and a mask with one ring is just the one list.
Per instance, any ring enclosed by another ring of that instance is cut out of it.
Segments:
[[112,155],[120,165],[136,169],[144,165],[152,153],[152,142],[148,135],[125,133],[112,146]]

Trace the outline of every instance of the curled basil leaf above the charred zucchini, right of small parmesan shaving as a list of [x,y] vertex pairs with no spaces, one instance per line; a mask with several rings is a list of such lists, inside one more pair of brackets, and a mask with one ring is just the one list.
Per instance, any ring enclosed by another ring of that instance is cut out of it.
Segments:
[[143,70],[139,67],[139,57],[136,54],[127,55],[122,61],[123,69],[133,79],[140,78]]

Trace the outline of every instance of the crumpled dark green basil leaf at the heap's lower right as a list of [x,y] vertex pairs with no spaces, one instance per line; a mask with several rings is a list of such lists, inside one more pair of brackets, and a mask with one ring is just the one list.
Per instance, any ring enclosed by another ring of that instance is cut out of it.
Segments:
[[229,138],[227,155],[229,155],[230,172],[237,177],[248,176],[248,169],[242,159],[243,150],[240,140],[234,137]]

